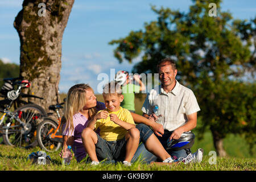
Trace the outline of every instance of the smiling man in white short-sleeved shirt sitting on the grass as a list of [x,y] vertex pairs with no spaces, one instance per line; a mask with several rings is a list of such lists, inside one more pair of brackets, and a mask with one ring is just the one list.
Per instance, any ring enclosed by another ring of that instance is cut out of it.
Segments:
[[[159,61],[157,67],[161,85],[150,90],[150,93],[147,94],[142,111],[143,116],[152,121],[144,124],[154,130],[156,137],[158,137],[164,148],[167,148],[167,140],[179,139],[181,134],[196,127],[197,111],[200,111],[200,107],[192,90],[179,84],[175,79],[177,69],[174,60],[163,59]],[[158,118],[154,114],[155,105],[158,105],[159,113],[162,117]],[[143,145],[138,148],[137,152],[142,151],[144,151],[143,153],[147,160],[155,160]],[[189,149],[167,150],[167,152],[171,156],[177,156],[177,158],[186,158],[191,154]],[[138,155],[138,153],[135,155]],[[194,153],[194,156],[196,155],[200,155],[200,158],[203,158],[203,150],[201,148],[197,150]]]

